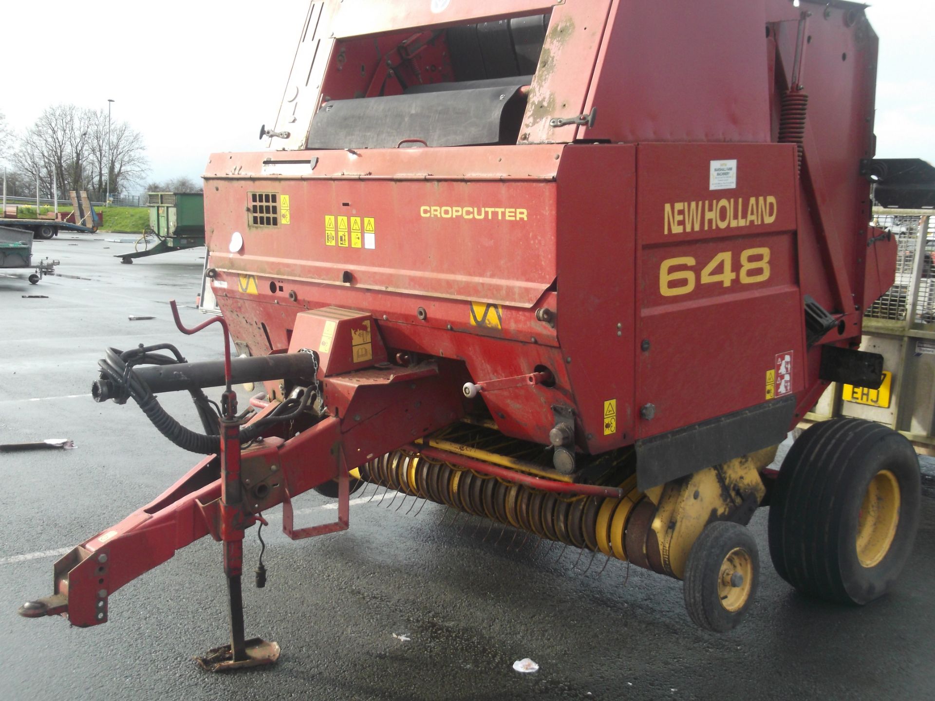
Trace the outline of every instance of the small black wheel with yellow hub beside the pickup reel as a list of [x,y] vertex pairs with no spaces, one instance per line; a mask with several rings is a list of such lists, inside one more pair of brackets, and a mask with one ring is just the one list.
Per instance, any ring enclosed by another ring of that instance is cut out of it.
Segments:
[[733,630],[750,608],[758,580],[759,551],[750,531],[740,523],[710,523],[692,546],[685,565],[688,615],[706,630]]

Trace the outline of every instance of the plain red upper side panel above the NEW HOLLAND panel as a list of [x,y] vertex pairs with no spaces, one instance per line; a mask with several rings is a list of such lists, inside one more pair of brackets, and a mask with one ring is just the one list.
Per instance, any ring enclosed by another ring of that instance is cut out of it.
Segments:
[[770,141],[763,0],[615,0],[579,138]]

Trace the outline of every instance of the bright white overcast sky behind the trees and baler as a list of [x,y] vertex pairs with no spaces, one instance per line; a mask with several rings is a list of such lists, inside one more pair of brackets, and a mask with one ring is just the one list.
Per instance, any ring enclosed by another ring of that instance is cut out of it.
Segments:
[[[151,180],[197,178],[212,151],[261,147],[260,125],[275,121],[307,7],[7,0],[0,112],[19,131],[51,104],[106,109],[112,98],[113,119],[146,140]],[[935,1],[877,0],[868,14],[880,36],[877,155],[935,164]]]

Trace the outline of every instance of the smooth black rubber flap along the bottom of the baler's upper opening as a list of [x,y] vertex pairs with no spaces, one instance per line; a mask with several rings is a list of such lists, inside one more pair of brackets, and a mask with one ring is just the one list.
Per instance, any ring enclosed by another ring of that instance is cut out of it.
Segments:
[[514,143],[525,84],[334,100],[312,120],[307,148],[395,149],[408,138],[428,146]]

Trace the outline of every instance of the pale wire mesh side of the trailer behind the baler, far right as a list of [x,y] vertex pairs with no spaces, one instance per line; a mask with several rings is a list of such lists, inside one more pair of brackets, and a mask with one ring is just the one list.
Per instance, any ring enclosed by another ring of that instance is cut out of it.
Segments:
[[[922,213],[926,214],[928,213]],[[920,227],[926,222],[926,231]],[[925,238],[925,260],[918,269],[919,285],[915,304],[916,323],[935,323],[935,212],[932,216],[916,214],[891,214],[885,209],[875,209],[873,225],[896,236],[898,251],[896,258],[896,279],[893,286],[867,309],[864,316],[868,319],[883,319],[891,322],[905,322],[912,307],[913,279],[915,277],[916,251],[919,250],[919,236]]]

